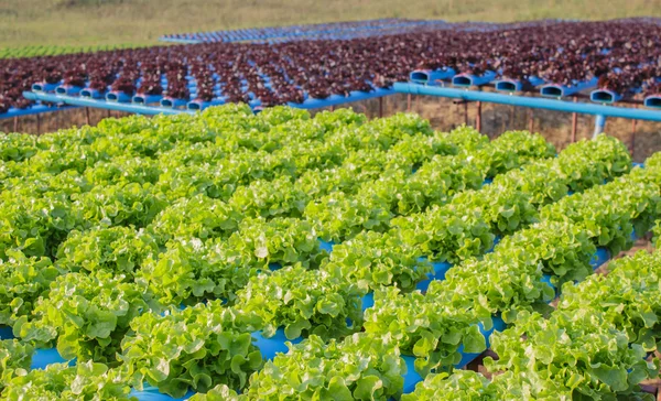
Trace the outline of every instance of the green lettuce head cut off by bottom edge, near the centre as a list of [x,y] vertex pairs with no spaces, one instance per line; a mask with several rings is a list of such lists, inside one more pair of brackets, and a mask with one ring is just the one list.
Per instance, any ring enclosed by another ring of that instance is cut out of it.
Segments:
[[390,336],[357,333],[290,345],[250,378],[254,400],[387,400],[402,392],[407,366]]

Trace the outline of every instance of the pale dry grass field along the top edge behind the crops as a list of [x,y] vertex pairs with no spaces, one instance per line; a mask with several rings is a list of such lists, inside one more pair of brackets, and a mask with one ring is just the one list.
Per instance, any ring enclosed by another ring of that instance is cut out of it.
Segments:
[[156,43],[160,35],[377,18],[509,22],[661,17],[661,0],[2,0],[0,48]]

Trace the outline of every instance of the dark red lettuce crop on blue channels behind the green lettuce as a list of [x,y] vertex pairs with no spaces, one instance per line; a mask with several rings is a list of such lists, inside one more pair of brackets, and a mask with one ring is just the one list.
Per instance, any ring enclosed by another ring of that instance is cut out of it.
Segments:
[[0,59],[0,112],[28,108],[35,83],[93,97],[273,106],[370,93],[416,68],[452,68],[574,86],[599,79],[622,96],[657,94],[661,25],[648,21],[548,22],[484,31],[441,29],[347,41],[192,44]]

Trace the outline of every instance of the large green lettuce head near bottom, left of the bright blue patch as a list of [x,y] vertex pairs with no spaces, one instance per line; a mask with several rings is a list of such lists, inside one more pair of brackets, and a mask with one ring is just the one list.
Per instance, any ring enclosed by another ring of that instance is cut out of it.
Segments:
[[139,390],[147,382],[180,398],[188,389],[207,392],[217,384],[242,389],[262,366],[246,322],[220,301],[144,313],[132,319],[119,359]]

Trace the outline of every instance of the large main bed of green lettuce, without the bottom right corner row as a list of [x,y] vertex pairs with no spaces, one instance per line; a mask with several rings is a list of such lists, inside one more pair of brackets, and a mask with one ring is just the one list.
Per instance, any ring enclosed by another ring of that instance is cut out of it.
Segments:
[[1,399],[651,397],[661,259],[592,273],[661,165],[611,137],[231,105],[0,158]]

